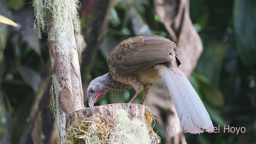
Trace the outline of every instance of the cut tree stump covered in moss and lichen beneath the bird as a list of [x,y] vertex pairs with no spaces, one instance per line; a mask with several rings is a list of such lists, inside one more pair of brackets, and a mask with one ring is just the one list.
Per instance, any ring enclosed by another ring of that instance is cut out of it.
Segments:
[[[85,108],[66,118],[67,144],[159,144],[154,116],[141,104],[108,104]],[[154,126],[153,126],[154,127]]]

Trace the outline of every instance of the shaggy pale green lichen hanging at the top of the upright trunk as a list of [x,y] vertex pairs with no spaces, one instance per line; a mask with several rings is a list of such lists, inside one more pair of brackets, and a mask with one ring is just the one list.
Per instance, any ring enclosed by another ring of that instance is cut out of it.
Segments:
[[[42,33],[46,33],[46,16],[52,17],[52,22],[48,25],[52,26],[53,30],[65,31],[67,20],[71,20],[76,34],[80,35],[81,28],[77,11],[79,3],[78,0],[33,0],[32,6],[36,18],[34,30],[39,38],[42,38]],[[78,53],[80,54],[81,51],[80,41],[78,41]]]

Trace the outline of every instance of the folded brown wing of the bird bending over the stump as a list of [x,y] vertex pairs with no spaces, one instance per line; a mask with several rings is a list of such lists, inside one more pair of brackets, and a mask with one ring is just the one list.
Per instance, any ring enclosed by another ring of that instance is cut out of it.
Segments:
[[174,42],[163,36],[136,36],[120,42],[107,62],[119,75],[136,74],[156,64],[178,60],[175,47]]

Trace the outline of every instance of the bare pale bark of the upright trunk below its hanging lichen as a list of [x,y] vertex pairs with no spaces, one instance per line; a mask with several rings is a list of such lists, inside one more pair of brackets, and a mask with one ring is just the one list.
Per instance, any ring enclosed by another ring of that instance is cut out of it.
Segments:
[[[64,10],[70,12],[71,2]],[[54,27],[51,10],[46,9],[49,52],[52,65],[53,93],[56,101],[56,122],[60,143],[66,143],[66,115],[84,108],[78,49],[74,36],[72,14],[64,20],[64,27]]]

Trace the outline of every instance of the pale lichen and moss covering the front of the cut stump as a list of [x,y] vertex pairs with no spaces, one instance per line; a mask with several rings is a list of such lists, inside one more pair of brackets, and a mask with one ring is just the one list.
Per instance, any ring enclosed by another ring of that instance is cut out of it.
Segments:
[[[145,115],[146,116],[146,115]],[[150,122],[154,117],[147,114]],[[151,124],[151,123],[150,123]],[[138,118],[130,119],[126,110],[116,110],[116,115],[104,120],[86,118],[73,120],[67,130],[67,144],[150,144],[159,143],[150,139],[151,126],[146,126]],[[157,134],[154,135],[157,137]]]

